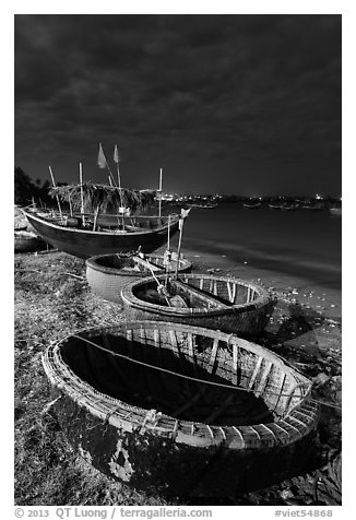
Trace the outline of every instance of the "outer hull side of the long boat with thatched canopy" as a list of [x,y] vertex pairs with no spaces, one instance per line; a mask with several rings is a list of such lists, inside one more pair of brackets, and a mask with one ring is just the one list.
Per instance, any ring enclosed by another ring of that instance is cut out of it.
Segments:
[[[143,252],[153,252],[167,241],[168,226],[142,232],[92,232],[63,227],[25,212],[28,222],[45,241],[69,255],[87,259],[96,255],[133,252],[140,247]],[[178,218],[170,224],[170,237],[178,231]]]

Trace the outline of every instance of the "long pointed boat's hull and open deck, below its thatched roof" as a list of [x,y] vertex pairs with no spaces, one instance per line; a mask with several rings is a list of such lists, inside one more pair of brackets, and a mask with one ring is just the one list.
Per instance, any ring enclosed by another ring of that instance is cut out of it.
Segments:
[[[140,247],[143,252],[152,252],[166,244],[177,233],[179,220],[169,216],[118,216],[93,214],[62,216],[54,212],[23,210],[36,232],[60,251],[79,258],[117,252],[133,252]],[[94,227],[94,231],[93,231]]]

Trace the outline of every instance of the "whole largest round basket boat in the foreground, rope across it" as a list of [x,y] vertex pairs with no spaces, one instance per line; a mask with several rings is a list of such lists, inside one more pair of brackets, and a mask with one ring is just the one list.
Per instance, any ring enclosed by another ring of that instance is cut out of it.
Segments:
[[233,496],[304,471],[312,447],[311,382],[233,334],[126,321],[51,344],[43,365],[73,448],[137,489]]

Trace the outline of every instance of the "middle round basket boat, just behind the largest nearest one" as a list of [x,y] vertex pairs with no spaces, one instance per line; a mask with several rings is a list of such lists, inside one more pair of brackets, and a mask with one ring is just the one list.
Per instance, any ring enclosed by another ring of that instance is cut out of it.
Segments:
[[[166,279],[164,275],[146,277],[122,288],[127,316],[177,321],[248,336],[263,330],[275,304],[263,286],[235,277],[181,274],[177,280],[169,279],[168,297],[162,294],[156,281],[164,286]],[[179,300],[178,306],[175,299]]]

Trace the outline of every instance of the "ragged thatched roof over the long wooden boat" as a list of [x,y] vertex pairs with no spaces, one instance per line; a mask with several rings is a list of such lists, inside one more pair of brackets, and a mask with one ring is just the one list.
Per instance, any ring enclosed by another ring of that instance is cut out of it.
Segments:
[[95,185],[93,182],[83,182],[81,185],[67,185],[51,188],[49,193],[52,198],[59,197],[63,202],[70,202],[73,210],[81,210],[83,205],[85,212],[107,210],[116,211],[120,206],[135,210],[153,203],[155,191],[138,191],[128,188],[117,188],[116,186]]

